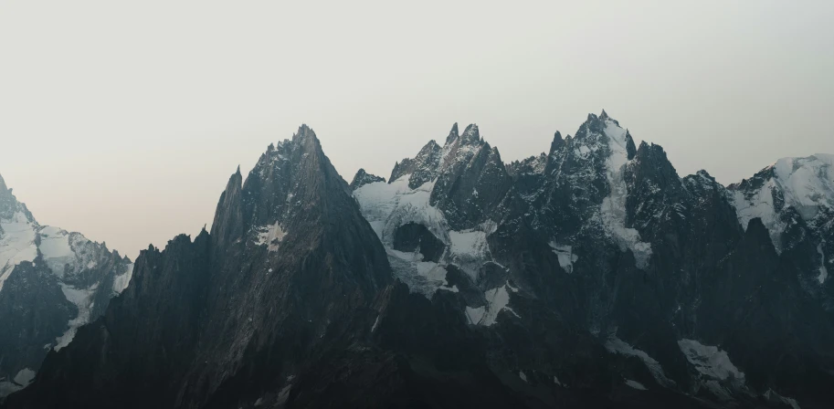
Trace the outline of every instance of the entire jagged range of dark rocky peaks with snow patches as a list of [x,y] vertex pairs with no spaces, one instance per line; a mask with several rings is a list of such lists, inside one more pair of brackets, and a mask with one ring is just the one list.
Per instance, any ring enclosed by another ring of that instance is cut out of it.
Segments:
[[[0,340],[46,355],[0,360],[2,407],[834,403],[834,155],[723,186],[605,111],[523,161],[476,125],[441,142],[348,184],[302,125],[231,175],[210,231],[84,284],[0,184],[0,319],[50,322]],[[64,288],[90,286],[71,342],[17,335],[65,330]]]

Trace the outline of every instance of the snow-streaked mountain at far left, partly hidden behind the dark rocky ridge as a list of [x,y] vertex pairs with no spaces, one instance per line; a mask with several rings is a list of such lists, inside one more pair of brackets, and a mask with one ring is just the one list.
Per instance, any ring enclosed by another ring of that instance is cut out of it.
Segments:
[[131,274],[131,261],[104,244],[39,225],[0,177],[0,396],[26,386],[21,374],[66,347]]

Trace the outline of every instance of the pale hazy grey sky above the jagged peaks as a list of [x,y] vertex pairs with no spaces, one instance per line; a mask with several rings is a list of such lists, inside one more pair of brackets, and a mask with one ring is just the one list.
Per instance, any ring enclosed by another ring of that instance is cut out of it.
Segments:
[[602,109],[724,184],[834,152],[834,1],[282,3],[4,0],[0,174],[135,257],[302,122],[348,180],[456,121],[509,162]]

